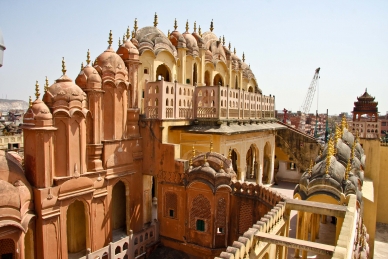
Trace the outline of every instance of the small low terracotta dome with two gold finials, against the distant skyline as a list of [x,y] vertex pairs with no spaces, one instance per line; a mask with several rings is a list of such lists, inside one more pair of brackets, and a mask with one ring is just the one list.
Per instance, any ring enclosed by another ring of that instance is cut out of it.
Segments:
[[[46,77],[46,87],[47,87],[47,77]],[[50,109],[47,105],[39,99],[39,84],[36,81],[35,84],[35,96],[36,100],[34,102],[30,99],[30,107],[27,112],[24,114],[23,123],[25,126],[35,125],[35,126],[47,126],[52,125],[53,116],[50,113]],[[31,98],[31,97],[30,97]]]

